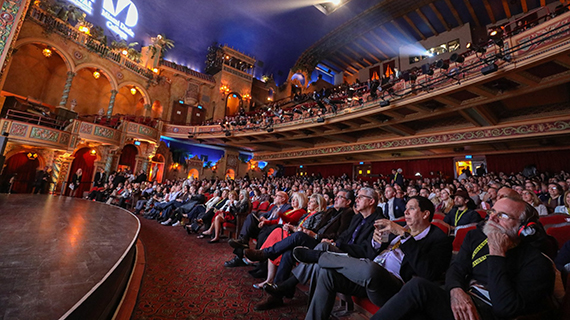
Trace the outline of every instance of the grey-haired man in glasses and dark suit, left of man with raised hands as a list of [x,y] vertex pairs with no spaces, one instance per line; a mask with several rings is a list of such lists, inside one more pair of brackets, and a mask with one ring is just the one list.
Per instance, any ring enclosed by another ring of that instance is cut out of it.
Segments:
[[[357,214],[352,218],[350,226],[336,240],[322,239],[314,249],[318,251],[344,252],[352,257],[366,258],[374,255],[372,248],[372,235],[374,221],[382,218],[382,210],[377,207],[378,194],[372,188],[360,189],[356,197],[354,211]],[[295,259],[293,251],[281,257],[281,264],[288,263],[288,259]],[[277,285],[265,287],[270,295],[255,306],[255,310],[268,310],[283,304],[284,296],[292,296],[298,283],[306,283],[316,279],[319,268],[314,263],[301,263],[293,270],[293,275]],[[311,292],[314,292],[314,281],[311,281]]]

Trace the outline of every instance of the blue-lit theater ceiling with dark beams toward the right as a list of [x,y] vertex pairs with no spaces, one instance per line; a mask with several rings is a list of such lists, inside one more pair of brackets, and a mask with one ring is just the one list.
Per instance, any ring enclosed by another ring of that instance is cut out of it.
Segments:
[[[88,20],[109,26],[130,16],[137,23],[127,42],[147,45],[161,33],[175,41],[167,60],[203,71],[207,48],[227,44],[256,57],[255,76],[273,74],[278,84],[297,64],[323,63],[356,73],[397,55],[401,45],[470,23],[484,27],[556,0],[352,0],[329,15],[310,0],[67,0],[88,3]],[[114,11],[114,12],[113,12]],[[107,17],[105,17],[107,16]],[[132,21],[131,21],[132,22]],[[107,28],[108,29],[108,28]],[[108,30],[108,33],[112,33]]]

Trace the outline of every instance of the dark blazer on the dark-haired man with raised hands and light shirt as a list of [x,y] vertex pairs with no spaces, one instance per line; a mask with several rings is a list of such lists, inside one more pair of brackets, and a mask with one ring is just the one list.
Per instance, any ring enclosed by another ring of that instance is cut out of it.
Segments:
[[[390,242],[395,238],[390,235]],[[384,244],[377,253],[388,247]],[[425,238],[416,241],[413,237],[400,245],[404,259],[400,267],[400,276],[405,282],[413,276],[431,281],[442,280],[451,261],[452,241],[440,228],[432,225]]]

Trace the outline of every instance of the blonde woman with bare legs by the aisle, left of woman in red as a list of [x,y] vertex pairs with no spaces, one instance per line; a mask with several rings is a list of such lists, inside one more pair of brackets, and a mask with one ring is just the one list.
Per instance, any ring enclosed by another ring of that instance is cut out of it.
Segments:
[[214,237],[209,241],[209,243],[219,242],[224,222],[235,224],[237,215],[247,213],[249,211],[251,204],[249,202],[247,190],[242,189],[240,191],[239,200],[237,200],[237,193],[235,191],[230,191],[228,198],[229,199],[226,204],[216,212],[210,229],[202,232],[198,238],[204,238],[204,236],[210,236],[213,233]]

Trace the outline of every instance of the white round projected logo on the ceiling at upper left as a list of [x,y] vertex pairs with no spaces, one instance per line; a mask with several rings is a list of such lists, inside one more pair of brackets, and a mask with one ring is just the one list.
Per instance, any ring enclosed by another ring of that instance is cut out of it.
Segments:
[[126,40],[135,36],[132,28],[139,21],[139,12],[131,0],[103,0],[101,15],[107,19],[107,28],[119,37]]

